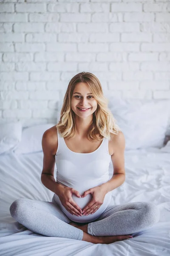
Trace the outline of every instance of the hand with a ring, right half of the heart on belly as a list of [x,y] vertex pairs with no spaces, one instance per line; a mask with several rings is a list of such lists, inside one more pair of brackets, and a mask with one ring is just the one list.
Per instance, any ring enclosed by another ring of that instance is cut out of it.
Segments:
[[104,201],[104,198],[106,195],[106,190],[105,190],[105,187],[99,185],[94,188],[86,190],[83,193],[82,197],[85,197],[88,194],[92,195],[92,199],[85,206],[85,208],[82,209],[83,215],[93,214],[94,212],[96,212],[99,209],[99,207],[103,204],[103,201]]

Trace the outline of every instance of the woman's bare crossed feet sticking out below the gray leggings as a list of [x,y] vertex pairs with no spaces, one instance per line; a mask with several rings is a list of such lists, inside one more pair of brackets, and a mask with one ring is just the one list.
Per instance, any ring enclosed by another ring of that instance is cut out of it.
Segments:
[[[81,230],[83,230],[83,226],[81,227],[81,224],[77,224],[74,222],[70,222],[69,223],[71,226],[77,227]],[[116,241],[122,241],[122,240],[126,240],[132,238],[132,236],[130,235],[119,235],[119,236],[91,236],[90,234],[86,233],[83,230],[83,238],[82,241],[87,241],[87,242],[91,242],[94,244],[111,244],[114,243]]]

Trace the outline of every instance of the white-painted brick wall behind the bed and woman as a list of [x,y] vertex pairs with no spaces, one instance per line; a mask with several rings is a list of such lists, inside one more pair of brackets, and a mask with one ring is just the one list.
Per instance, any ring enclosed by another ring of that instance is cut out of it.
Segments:
[[170,0],[0,0],[0,119],[56,122],[70,79],[170,99]]

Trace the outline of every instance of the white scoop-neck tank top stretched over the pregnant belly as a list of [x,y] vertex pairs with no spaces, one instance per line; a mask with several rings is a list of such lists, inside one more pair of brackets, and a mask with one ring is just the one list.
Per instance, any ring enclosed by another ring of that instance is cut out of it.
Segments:
[[[64,138],[58,134],[58,148],[55,155],[58,183],[65,186],[76,189],[80,195],[86,190],[95,186],[99,186],[109,180],[109,163],[111,162],[111,155],[108,151],[108,138],[103,138],[99,148],[91,153],[76,153],[71,151],[65,144]],[[88,194],[84,198],[78,198],[75,194],[72,195],[73,200],[83,209],[89,201],[91,201],[92,195]],[[105,195],[103,204],[97,209],[94,214],[88,216],[72,215],[61,204],[59,197],[54,193],[54,199],[67,215],[69,219],[75,222],[91,222],[105,211],[108,204],[111,202],[111,191]]]

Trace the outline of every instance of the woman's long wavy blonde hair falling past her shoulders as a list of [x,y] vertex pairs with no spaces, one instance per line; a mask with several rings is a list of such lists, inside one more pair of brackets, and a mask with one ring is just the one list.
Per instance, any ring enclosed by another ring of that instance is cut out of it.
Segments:
[[[81,72],[75,75],[69,82],[66,90],[59,122],[56,125],[60,134],[64,138],[72,138],[76,132],[75,113],[71,109],[71,98],[74,87],[77,83],[88,84],[94,98],[97,101],[96,111],[93,113],[93,122],[88,130],[88,140],[99,140],[96,134],[111,140],[111,133],[118,134],[120,131],[116,120],[108,108],[108,99],[103,95],[102,86],[99,79],[92,73]],[[103,140],[103,137],[101,140]]]

